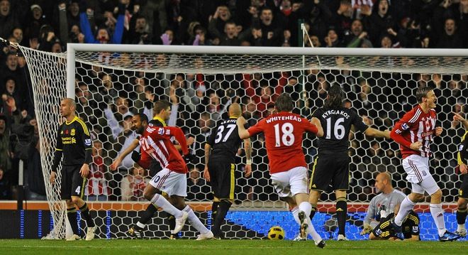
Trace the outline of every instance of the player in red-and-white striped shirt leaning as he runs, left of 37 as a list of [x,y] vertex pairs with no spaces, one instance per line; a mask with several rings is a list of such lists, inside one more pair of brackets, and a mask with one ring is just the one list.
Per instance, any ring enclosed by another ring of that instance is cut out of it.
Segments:
[[[132,129],[140,136],[141,158],[138,164],[143,168],[149,168],[151,159],[158,161],[162,170],[158,172],[147,185],[144,196],[155,206],[162,208],[176,218],[176,226],[172,234],[177,234],[186,219],[200,232],[197,240],[211,239],[213,233],[207,229],[200,219],[196,217],[191,207],[185,204],[187,195],[187,166],[186,158],[189,158],[189,149],[182,129],[174,126],[155,126],[151,122],[147,123],[145,114],[136,114],[132,119]],[[174,136],[182,147],[184,158],[180,155],[171,137]],[[166,192],[169,201],[165,199],[161,192]]]

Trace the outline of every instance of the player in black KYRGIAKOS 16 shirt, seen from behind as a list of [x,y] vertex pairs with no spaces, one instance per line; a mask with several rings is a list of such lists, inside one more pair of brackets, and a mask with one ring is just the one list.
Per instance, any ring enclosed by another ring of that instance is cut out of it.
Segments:
[[389,131],[373,129],[352,109],[343,107],[341,87],[328,89],[327,99],[322,108],[313,113],[323,126],[323,136],[318,138],[318,156],[313,166],[308,201],[312,205],[311,219],[317,210],[321,193],[332,185],[336,195],[338,218],[338,241],[347,240],[345,223],[347,215],[346,190],[349,186],[350,157],[348,156],[351,126],[366,136],[390,138]]

